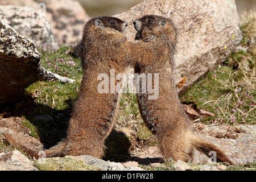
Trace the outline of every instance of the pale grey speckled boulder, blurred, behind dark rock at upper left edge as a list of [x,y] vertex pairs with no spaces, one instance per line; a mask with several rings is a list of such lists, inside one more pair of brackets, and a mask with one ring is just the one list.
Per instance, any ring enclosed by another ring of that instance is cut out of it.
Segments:
[[56,49],[57,42],[47,19],[38,10],[26,6],[0,6],[0,19],[36,46]]

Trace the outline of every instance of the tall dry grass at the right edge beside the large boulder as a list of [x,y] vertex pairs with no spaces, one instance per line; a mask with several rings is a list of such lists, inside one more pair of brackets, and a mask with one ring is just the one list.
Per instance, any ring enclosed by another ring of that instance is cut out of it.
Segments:
[[254,123],[256,109],[256,11],[241,14],[243,40],[241,46],[229,57],[228,65],[234,69],[228,80],[218,80],[219,89],[229,90],[214,102],[224,121]]

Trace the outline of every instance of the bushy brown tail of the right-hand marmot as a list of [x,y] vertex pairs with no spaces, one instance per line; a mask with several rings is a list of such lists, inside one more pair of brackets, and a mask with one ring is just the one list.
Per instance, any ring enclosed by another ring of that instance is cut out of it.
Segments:
[[196,135],[191,137],[191,146],[199,152],[208,156],[208,158],[216,158],[216,162],[229,163],[233,165],[233,162],[229,160],[228,156],[221,151],[220,148],[214,146],[214,144],[208,143],[203,139],[200,139]]

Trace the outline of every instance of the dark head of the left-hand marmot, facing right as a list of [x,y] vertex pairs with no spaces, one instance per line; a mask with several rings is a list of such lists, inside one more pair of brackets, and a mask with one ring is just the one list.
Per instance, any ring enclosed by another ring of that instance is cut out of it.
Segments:
[[85,26],[95,26],[96,28],[113,28],[119,32],[124,32],[127,22],[113,16],[100,16],[90,19]]

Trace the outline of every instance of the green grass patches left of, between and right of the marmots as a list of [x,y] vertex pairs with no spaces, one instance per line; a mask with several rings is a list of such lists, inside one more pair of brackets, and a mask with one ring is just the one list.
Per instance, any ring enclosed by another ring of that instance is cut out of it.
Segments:
[[[193,103],[199,109],[214,113],[202,117],[205,123],[254,123],[255,121],[255,11],[245,13],[241,21],[241,49],[230,53],[226,61],[181,96],[181,102]],[[72,47],[41,52],[42,66],[49,71],[75,80],[74,84],[38,81],[26,89],[38,107],[34,115],[64,114],[68,117],[79,93],[82,79],[80,60],[71,55]],[[141,119],[135,94],[121,97],[117,126],[124,127],[129,119]],[[67,122],[67,121],[65,121]]]

